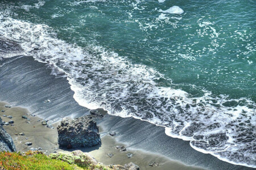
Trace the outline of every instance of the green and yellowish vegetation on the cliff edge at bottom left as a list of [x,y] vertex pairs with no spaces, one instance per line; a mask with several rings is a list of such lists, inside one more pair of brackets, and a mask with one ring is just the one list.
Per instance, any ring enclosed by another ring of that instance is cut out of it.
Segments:
[[49,156],[40,151],[0,152],[0,169],[102,169],[109,170],[86,154],[72,152],[57,153]]

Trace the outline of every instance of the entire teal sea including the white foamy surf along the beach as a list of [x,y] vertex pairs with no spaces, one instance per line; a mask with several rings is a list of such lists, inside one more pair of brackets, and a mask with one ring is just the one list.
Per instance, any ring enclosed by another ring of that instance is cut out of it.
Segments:
[[0,58],[32,56],[82,106],[256,167],[256,1],[0,2]]

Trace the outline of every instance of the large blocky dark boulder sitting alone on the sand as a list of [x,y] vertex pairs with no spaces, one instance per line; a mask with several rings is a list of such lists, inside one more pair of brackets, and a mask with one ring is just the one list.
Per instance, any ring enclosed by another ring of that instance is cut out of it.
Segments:
[[91,116],[64,119],[57,127],[60,147],[92,147],[101,143],[98,126]]

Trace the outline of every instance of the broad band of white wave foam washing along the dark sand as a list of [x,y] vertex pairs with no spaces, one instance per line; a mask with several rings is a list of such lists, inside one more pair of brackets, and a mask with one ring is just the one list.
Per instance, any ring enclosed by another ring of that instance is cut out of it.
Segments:
[[[182,90],[161,87],[159,81],[171,82],[154,69],[135,65],[101,46],[84,49],[68,44],[57,39],[47,25],[2,17],[0,35],[19,43],[20,54],[49,63],[52,74],[67,75],[80,105],[164,126],[167,135],[191,141],[198,151],[256,167],[253,101],[209,91],[192,97]],[[6,56],[0,53],[0,57]]]

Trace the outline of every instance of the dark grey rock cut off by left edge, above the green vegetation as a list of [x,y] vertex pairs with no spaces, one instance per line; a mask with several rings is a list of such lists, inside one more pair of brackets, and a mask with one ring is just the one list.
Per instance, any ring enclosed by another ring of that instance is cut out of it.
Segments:
[[11,136],[3,129],[2,118],[0,117],[0,151],[16,152],[16,147]]

